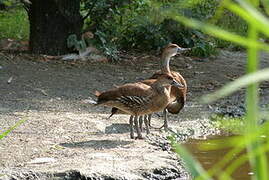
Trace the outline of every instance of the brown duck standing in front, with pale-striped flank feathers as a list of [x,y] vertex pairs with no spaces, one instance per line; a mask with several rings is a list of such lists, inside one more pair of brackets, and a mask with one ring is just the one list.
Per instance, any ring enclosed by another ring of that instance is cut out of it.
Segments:
[[142,139],[138,127],[138,117],[159,112],[170,103],[170,89],[172,87],[184,88],[180,82],[174,80],[169,74],[160,75],[150,86],[141,82],[128,83],[117,88],[100,93],[96,105],[116,107],[130,114],[130,136],[134,138],[133,122],[137,131],[137,138]]

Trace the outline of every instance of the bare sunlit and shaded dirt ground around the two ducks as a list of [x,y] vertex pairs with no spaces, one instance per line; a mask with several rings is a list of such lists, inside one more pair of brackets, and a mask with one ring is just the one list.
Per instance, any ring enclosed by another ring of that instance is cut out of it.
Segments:
[[[127,115],[108,120],[110,108],[86,103],[95,99],[95,90],[138,81],[159,69],[157,56],[123,59],[65,62],[0,52],[0,133],[26,120],[0,141],[0,179],[191,179],[170,151],[169,133],[151,130],[144,140],[132,140]],[[171,60],[171,69],[189,88],[185,108],[169,115],[169,126],[182,141],[219,133],[211,113],[244,113],[243,91],[210,106],[198,100],[244,74],[245,61],[244,52],[229,51]],[[269,67],[268,54],[261,53],[261,67]],[[261,87],[263,106],[268,87]],[[152,120],[154,126],[162,121],[162,113]]]

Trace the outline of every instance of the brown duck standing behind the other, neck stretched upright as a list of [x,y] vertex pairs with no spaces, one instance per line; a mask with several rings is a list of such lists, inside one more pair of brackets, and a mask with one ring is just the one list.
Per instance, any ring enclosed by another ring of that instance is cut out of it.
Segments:
[[[170,59],[171,57],[175,56],[177,53],[181,53],[183,51],[189,50],[189,48],[181,48],[176,44],[169,44],[167,47],[164,48],[162,56],[161,56],[161,70],[157,71],[152,77],[150,77],[148,80],[141,81],[142,83],[145,83],[147,85],[151,85],[156,81],[156,79],[161,75],[161,74],[172,74],[173,78],[177,81],[180,82],[181,84],[184,85],[184,88],[176,88],[172,87],[171,92],[170,92],[170,103],[168,104],[167,108],[164,109],[164,124],[162,127],[167,128],[168,123],[167,123],[167,111],[172,113],[172,114],[177,114],[180,112],[180,110],[184,107],[185,102],[186,102],[186,93],[187,93],[187,83],[184,80],[184,78],[180,75],[180,73],[175,72],[175,71],[170,71]],[[111,117],[113,114],[122,114],[124,112],[118,111],[117,108],[112,108],[111,110]],[[140,118],[141,119],[141,118]],[[148,130],[148,125],[150,126],[150,120],[151,120],[151,114],[146,115],[144,117],[144,122],[146,124],[146,130],[147,133],[149,132]],[[142,130],[142,121],[140,120],[140,127]],[[148,123],[148,124],[147,124]],[[162,128],[160,127],[160,128]]]

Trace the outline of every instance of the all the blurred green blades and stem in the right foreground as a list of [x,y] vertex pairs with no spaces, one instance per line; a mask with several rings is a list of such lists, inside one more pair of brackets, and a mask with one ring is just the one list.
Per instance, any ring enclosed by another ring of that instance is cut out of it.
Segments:
[[[259,51],[266,50],[269,52],[269,45],[259,41],[262,34],[264,37],[269,37],[269,19],[259,12],[257,6],[259,1],[244,1],[225,0],[222,8],[226,8],[232,13],[240,16],[248,25],[248,31],[243,35],[224,30],[212,24],[204,23],[198,20],[186,18],[182,15],[173,17],[175,20],[189,26],[191,28],[199,29],[209,35],[215,36],[222,40],[237,43],[247,49],[247,75],[239,78],[238,80],[224,86],[219,91],[212,95],[206,96],[204,102],[212,102],[221,97],[224,97],[244,86],[246,90],[246,118],[244,119],[243,135],[236,138],[226,140],[225,146],[221,148],[232,148],[223,159],[208,170],[207,175],[216,177],[217,179],[232,179],[232,173],[238,169],[243,163],[249,161],[253,176],[251,179],[267,180],[269,179],[268,173],[268,154],[269,151],[269,123],[262,126],[259,125],[261,120],[261,113],[259,112],[259,82],[268,80],[269,70],[264,69],[258,71],[259,67]],[[265,3],[265,1],[262,1]],[[266,6],[265,6],[266,7]],[[177,151],[184,160],[188,161],[191,155],[186,153],[184,148],[178,145],[181,149]],[[243,154],[243,150],[247,149],[247,154]],[[234,158],[237,156],[236,158]],[[229,166],[228,163],[230,162]],[[197,161],[191,160],[186,165],[188,169],[195,169]],[[225,168],[227,167],[227,168]],[[204,178],[204,172],[198,172],[197,168],[194,175],[198,179]]]

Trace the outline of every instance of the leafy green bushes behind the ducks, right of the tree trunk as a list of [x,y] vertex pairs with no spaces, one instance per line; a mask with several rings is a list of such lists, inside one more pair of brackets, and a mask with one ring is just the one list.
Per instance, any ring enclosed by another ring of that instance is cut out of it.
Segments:
[[85,2],[82,13],[85,15],[87,9],[91,10],[86,28],[95,32],[97,43],[103,49],[113,47],[146,51],[160,49],[173,42],[182,47],[193,47],[192,55],[208,56],[216,52],[213,40],[167,17],[165,12],[176,8],[177,13],[207,20],[213,16],[217,4],[217,0],[101,0]]

